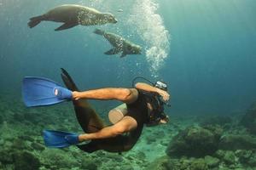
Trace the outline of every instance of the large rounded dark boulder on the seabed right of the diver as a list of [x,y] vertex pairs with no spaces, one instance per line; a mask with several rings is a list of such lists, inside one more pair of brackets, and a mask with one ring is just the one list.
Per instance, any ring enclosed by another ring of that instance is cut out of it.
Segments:
[[203,127],[188,127],[172,139],[168,156],[207,156],[218,149],[220,134]]

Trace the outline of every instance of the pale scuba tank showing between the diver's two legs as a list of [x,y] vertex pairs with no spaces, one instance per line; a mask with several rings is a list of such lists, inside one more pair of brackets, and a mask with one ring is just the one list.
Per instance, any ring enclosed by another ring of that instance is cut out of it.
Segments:
[[119,122],[127,114],[126,104],[118,105],[108,112],[108,119],[113,124]]

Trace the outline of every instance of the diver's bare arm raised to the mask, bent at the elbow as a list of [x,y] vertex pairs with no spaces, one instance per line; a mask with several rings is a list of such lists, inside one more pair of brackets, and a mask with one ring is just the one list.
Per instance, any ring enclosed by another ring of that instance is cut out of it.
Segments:
[[160,94],[165,101],[168,101],[170,99],[170,94],[168,94],[165,90],[161,90],[160,88],[155,88],[147,83],[137,82],[135,87],[147,92],[154,92],[154,93]]

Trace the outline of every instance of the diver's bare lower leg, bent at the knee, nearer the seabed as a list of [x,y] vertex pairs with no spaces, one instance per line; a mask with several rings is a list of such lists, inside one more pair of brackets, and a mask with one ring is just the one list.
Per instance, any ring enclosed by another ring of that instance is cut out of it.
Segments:
[[79,141],[91,139],[113,138],[119,134],[130,132],[137,127],[137,121],[131,116],[125,116],[121,121],[113,126],[104,127],[96,133],[85,133],[79,135]]

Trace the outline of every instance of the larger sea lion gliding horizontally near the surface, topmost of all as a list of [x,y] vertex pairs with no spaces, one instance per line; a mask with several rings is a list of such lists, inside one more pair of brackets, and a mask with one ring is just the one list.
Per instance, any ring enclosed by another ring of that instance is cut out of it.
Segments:
[[117,23],[117,20],[110,13],[101,13],[95,8],[89,8],[75,4],[65,4],[50,9],[46,14],[32,17],[28,22],[30,28],[37,26],[41,21],[49,20],[55,22],[64,22],[63,25],[56,28],[55,31],[61,31],[73,26],[94,26],[107,23]]

